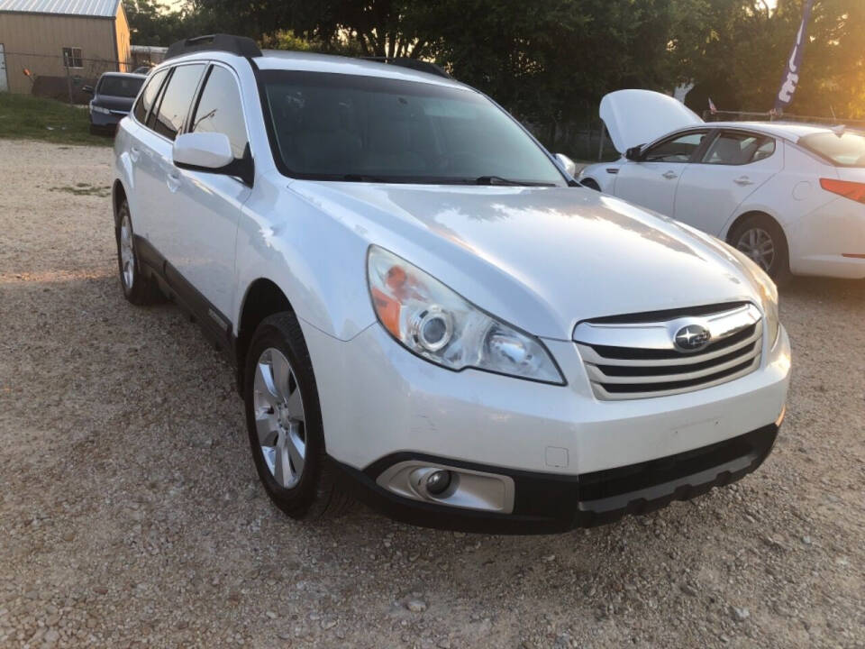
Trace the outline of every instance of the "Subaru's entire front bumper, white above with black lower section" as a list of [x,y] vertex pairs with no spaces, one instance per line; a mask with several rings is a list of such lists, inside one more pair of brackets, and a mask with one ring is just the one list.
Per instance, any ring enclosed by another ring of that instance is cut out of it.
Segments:
[[[741,379],[669,397],[611,402],[594,397],[570,341],[544,341],[568,383],[554,386],[478,370],[444,370],[405,351],[378,324],[348,342],[302,327],[328,454],[344,474],[367,487],[366,498],[374,505],[425,526],[551,532],[689,498],[760,465],[774,442],[788,391],[790,347],[783,329],[774,348],[763,350],[760,368]],[[749,432],[761,441],[745,448],[743,434]],[[718,443],[741,452],[710,453],[695,469],[688,453]],[[671,458],[676,470],[662,471]],[[513,513],[409,502],[378,486],[382,471],[407,459],[512,477]],[[650,467],[654,477],[616,487],[609,492],[614,500],[606,504],[600,502],[606,496],[597,494],[608,487],[587,491],[593,481],[606,483],[601,476],[615,482],[620,480],[615,471],[624,475],[641,467]]]

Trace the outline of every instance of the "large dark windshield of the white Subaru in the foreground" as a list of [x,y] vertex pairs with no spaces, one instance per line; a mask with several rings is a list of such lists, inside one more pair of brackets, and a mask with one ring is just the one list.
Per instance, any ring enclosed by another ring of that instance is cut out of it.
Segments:
[[565,185],[541,147],[470,89],[288,70],[261,77],[274,153],[290,176]]

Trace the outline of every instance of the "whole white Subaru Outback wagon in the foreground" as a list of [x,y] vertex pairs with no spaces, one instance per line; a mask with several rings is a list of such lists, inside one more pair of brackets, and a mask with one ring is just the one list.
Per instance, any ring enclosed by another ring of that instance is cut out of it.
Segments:
[[192,39],[120,124],[123,291],[236,366],[269,497],[544,533],[756,469],[790,370],[771,280],[419,68]]

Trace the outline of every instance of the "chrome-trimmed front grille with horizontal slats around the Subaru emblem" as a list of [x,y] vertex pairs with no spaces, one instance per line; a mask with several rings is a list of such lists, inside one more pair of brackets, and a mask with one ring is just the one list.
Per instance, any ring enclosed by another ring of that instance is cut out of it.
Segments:
[[[750,303],[615,316],[578,324],[574,340],[596,398],[666,397],[709,388],[760,366],[762,317]],[[673,317],[661,319],[664,316]],[[712,334],[697,352],[673,342],[679,329],[700,324]]]

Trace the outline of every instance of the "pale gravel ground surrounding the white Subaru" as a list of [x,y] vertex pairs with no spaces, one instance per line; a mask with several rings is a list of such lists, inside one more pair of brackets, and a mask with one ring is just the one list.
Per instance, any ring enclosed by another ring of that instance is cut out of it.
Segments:
[[0,141],[0,646],[865,647],[865,283],[782,292],[787,423],[732,487],[557,536],[302,525],[196,325],[123,300],[110,160]]

